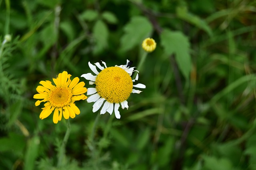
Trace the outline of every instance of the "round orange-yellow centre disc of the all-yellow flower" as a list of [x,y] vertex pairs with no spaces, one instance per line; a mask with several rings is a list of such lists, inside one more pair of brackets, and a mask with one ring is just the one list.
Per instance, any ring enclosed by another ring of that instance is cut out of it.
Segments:
[[51,90],[48,101],[54,107],[68,106],[71,102],[72,90],[68,87],[56,87]]

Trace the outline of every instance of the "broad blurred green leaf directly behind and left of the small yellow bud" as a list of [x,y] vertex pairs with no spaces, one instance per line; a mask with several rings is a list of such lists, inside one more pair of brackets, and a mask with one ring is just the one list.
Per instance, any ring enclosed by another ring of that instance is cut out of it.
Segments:
[[124,35],[121,38],[121,51],[125,52],[138,44],[142,44],[143,39],[147,38],[153,28],[147,18],[135,16],[124,27]]

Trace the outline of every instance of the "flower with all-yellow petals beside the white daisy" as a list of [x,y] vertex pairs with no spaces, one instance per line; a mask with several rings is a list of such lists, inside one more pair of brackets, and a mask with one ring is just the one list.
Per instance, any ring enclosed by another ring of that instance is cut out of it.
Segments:
[[57,78],[53,78],[53,82],[56,86],[52,85],[52,82],[40,81],[36,91],[39,94],[34,95],[34,99],[43,99],[36,101],[36,106],[39,106],[41,102],[46,102],[40,119],[48,117],[52,111],[53,122],[58,123],[61,120],[62,114],[65,119],[69,117],[74,118],[80,114],[80,110],[74,104],[77,100],[85,100],[87,97],[84,95],[87,92],[87,88],[84,87],[84,82],[79,82],[79,78],[76,77],[72,81],[70,80],[70,74],[64,71],[60,73]]

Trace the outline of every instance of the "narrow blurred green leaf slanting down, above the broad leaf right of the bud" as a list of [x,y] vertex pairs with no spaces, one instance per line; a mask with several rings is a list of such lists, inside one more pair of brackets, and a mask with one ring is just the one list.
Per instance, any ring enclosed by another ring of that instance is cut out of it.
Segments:
[[178,16],[178,18],[195,25],[200,29],[203,29],[204,31],[206,31],[206,33],[208,33],[208,35],[212,36],[212,29],[209,27],[206,21],[202,20],[198,16],[195,16],[194,14],[189,13],[186,6],[178,6],[176,8],[176,15]]

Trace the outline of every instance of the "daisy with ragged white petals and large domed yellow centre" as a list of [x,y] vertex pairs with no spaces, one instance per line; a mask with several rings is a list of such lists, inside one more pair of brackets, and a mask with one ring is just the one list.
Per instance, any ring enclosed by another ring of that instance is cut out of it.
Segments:
[[[81,77],[84,77],[86,80],[90,80],[89,84],[95,84],[95,88],[88,88],[87,95],[91,95],[88,97],[87,102],[95,102],[92,108],[93,112],[96,112],[103,105],[100,110],[100,114],[104,114],[106,112],[112,114],[113,110],[115,112],[116,118],[120,119],[121,115],[118,111],[118,108],[121,104],[122,109],[128,109],[127,99],[129,98],[131,93],[140,93],[142,91],[135,90],[135,88],[146,88],[144,84],[133,84],[135,80],[138,80],[138,73],[136,78],[132,80],[131,76],[135,67],[129,66],[130,61],[127,60],[126,65],[120,66],[112,66],[107,67],[106,63],[102,61],[101,66],[100,63],[94,63],[95,65],[88,63],[90,69],[96,76],[91,73],[82,74]],[[96,66],[100,69],[98,72]]]

